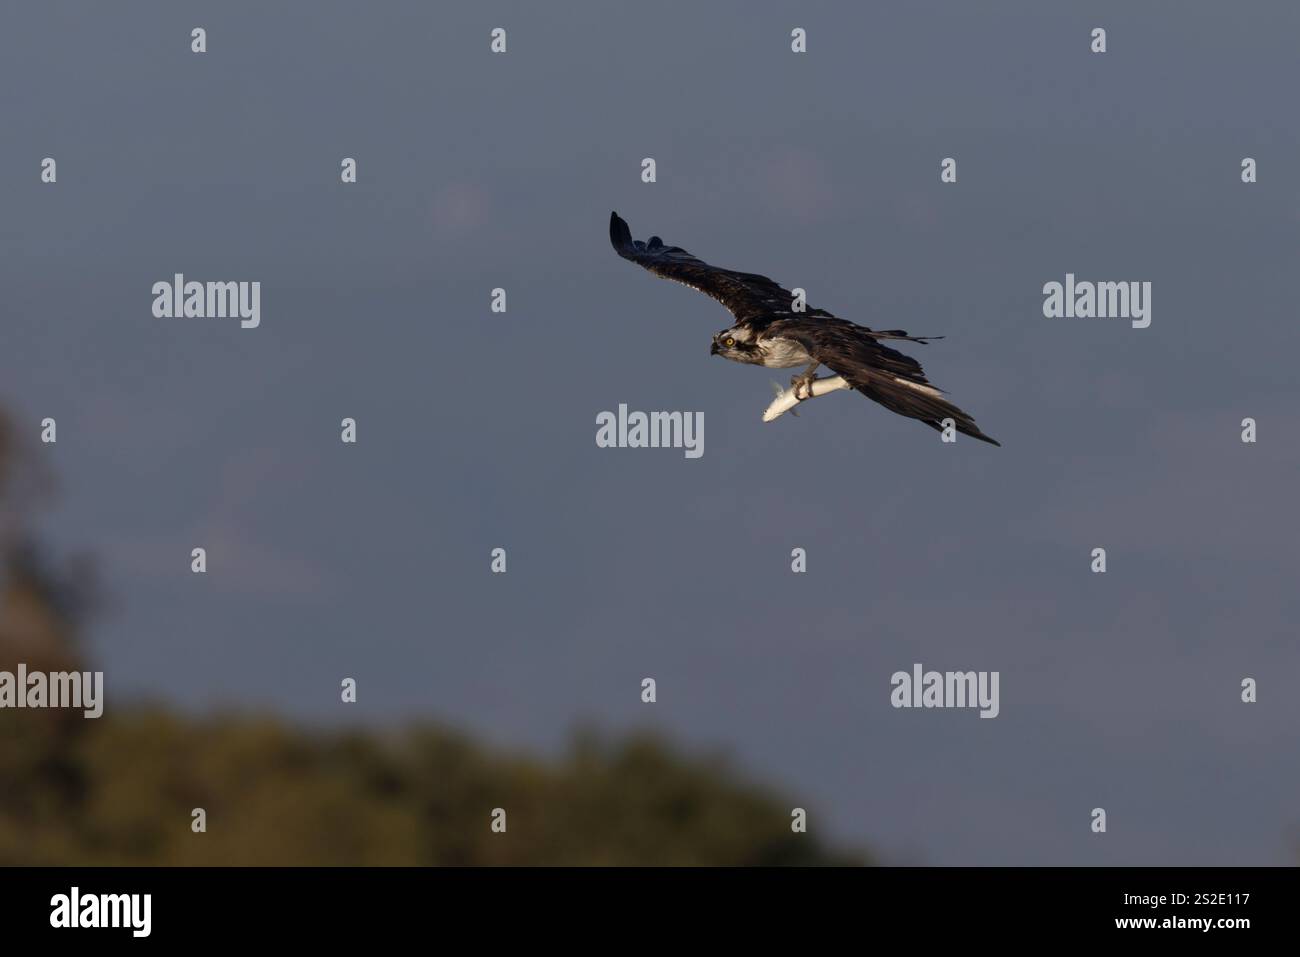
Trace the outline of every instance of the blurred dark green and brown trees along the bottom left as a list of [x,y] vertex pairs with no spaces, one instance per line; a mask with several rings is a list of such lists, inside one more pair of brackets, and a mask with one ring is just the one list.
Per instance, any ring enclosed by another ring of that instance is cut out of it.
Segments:
[[[51,486],[14,436],[0,416],[0,670],[88,670],[92,566],[36,542],[34,503]],[[94,720],[0,710],[0,865],[863,861],[793,833],[798,802],[649,736],[585,732],[543,762],[433,724],[322,732],[109,698]]]

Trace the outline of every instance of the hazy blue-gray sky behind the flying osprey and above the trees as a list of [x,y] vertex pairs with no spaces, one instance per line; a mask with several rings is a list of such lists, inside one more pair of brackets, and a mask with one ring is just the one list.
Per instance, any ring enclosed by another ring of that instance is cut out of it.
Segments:
[[[543,750],[658,728],[887,859],[1294,862],[1297,31],[1292,3],[6,8],[0,403],[58,421],[42,528],[101,562],[109,694]],[[762,424],[780,373],[710,358],[727,313],[618,259],[610,209],[945,335],[911,351],[1005,447],[849,393]],[[176,272],[261,281],[261,326],[153,319]],[[1150,328],[1045,320],[1067,272],[1150,281]],[[597,449],[619,403],[703,412],[703,458]],[[1000,671],[1001,715],[892,709],[914,662]]]

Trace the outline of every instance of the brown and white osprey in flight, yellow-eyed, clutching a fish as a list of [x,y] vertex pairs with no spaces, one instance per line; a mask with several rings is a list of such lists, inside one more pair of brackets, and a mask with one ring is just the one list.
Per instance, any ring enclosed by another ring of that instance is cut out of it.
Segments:
[[944,419],[952,419],[962,434],[1001,445],[980,432],[974,419],[930,384],[920,363],[881,345],[887,339],[924,345],[941,335],[867,329],[826,309],[796,311],[794,296],[766,276],[708,265],[680,246],[664,246],[656,235],[649,242],[633,239],[632,230],[618,213],[610,213],[610,242],[624,259],[655,276],[699,290],[732,313],[734,324],[714,335],[710,355],[770,369],[805,365],[803,372],[790,380],[796,390],[807,390],[818,367],[826,365],[890,412],[919,419],[939,430],[944,428]]

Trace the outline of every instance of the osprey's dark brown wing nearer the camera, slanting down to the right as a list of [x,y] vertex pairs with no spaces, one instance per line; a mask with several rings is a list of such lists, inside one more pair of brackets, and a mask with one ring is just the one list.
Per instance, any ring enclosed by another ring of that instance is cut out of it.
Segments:
[[920,363],[883,346],[879,342],[880,333],[842,319],[798,317],[771,324],[766,335],[794,339],[807,350],[809,355],[890,412],[919,419],[939,430],[944,428],[944,419],[952,419],[962,434],[1001,445],[980,432],[974,419],[948,402],[942,391],[931,385]]

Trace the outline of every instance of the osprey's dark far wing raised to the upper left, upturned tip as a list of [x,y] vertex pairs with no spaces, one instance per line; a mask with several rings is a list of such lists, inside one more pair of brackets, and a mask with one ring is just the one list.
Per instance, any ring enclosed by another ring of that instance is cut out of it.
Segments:
[[793,294],[766,276],[708,265],[680,246],[664,246],[656,235],[650,237],[649,242],[633,239],[632,230],[618,213],[610,213],[610,243],[620,256],[655,276],[712,296],[727,307],[737,322],[762,328],[783,316],[831,316],[824,309],[812,308],[794,312]]

